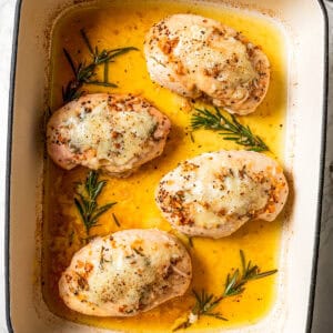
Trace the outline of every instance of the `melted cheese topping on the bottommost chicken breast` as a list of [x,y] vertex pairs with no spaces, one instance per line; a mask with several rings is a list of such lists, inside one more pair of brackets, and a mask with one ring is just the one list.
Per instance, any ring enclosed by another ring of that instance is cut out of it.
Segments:
[[[172,251],[157,251],[147,245],[140,250],[117,245],[112,251],[110,245],[110,242],[104,243],[101,255],[105,263],[89,281],[92,300],[97,304],[113,302],[125,306],[128,312],[137,311],[142,306],[142,299],[147,299],[145,294],[152,292],[152,285],[160,282],[159,268],[170,265]],[[150,255],[152,250],[155,255]]]

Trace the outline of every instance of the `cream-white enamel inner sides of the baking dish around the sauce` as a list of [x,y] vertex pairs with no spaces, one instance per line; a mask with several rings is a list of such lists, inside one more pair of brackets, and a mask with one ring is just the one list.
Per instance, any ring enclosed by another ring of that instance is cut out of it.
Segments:
[[[109,0],[112,1],[112,0]],[[52,23],[82,0],[21,0],[17,6],[8,140],[7,317],[18,333],[100,332],[54,316],[40,287],[43,189],[42,117]],[[91,2],[91,1],[90,1]],[[93,1],[98,4],[97,1]],[[191,1],[189,1],[191,2]],[[209,1],[206,1],[209,2]],[[311,330],[322,196],[326,112],[327,19],[317,0],[211,1],[264,14],[286,41],[289,98],[285,167],[292,174],[275,304],[261,322],[238,332]],[[135,6],[135,1],[133,1]],[[233,331],[235,332],[235,331]]]

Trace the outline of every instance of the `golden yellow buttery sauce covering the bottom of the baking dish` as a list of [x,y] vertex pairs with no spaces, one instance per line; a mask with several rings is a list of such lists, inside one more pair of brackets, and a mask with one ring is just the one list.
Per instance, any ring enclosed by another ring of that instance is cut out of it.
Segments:
[[[144,164],[128,179],[112,179],[103,175],[108,184],[100,196],[100,204],[118,202],[114,208],[92,228],[90,236],[105,235],[123,229],[159,228],[171,231],[161,216],[155,203],[154,191],[159,180],[176,167],[179,161],[206,151],[241,149],[233,142],[210,131],[198,131],[191,139],[191,111],[185,99],[153,84],[149,78],[143,56],[143,40],[154,23],[171,13],[198,13],[216,19],[243,32],[253,43],[262,47],[272,65],[269,93],[254,114],[243,117],[271,149],[271,154],[282,160],[283,133],[286,108],[285,59],[282,34],[269,20],[222,7],[208,7],[172,1],[112,1],[104,8],[80,8],[62,17],[53,31],[51,109],[61,107],[61,87],[72,78],[62,48],[69,50],[75,60],[89,59],[89,53],[80,37],[84,28],[92,44],[99,49],[137,47],[140,51],[121,56],[110,65],[110,81],[119,88],[108,89],[87,85],[89,92],[121,92],[140,94],[153,102],[172,121],[170,140],[162,157]],[[87,170],[77,168],[64,171],[51,161],[47,165],[46,213],[43,243],[43,295],[50,310],[69,320],[94,326],[122,330],[125,332],[168,332],[184,319],[194,304],[191,290],[205,289],[210,293],[223,291],[225,276],[240,268],[239,251],[242,249],[263,270],[278,265],[282,218],[269,223],[250,222],[236,233],[221,240],[193,239],[193,248],[186,243],[193,262],[193,282],[188,293],[169,301],[154,310],[134,317],[92,317],[74,313],[65,307],[58,294],[58,280],[69,265],[75,251],[85,244],[85,230],[73,204],[73,183],[83,181]],[[121,226],[112,219],[114,213]],[[262,319],[272,307],[275,299],[276,276],[250,282],[245,292],[224,300],[216,311],[229,321],[202,317],[188,329],[216,329],[249,325]]]

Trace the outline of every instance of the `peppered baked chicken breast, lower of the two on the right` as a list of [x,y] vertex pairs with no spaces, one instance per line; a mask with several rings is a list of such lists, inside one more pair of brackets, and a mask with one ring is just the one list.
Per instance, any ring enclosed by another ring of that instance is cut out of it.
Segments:
[[273,221],[289,186],[282,168],[251,151],[218,151],[184,161],[160,182],[155,200],[182,233],[223,238],[245,222]]

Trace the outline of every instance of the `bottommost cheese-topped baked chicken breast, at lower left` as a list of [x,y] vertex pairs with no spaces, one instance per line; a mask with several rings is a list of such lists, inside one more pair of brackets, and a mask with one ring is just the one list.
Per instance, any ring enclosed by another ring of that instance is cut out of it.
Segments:
[[176,238],[159,230],[125,230],[77,252],[59,293],[83,314],[133,316],[184,294],[191,278],[190,255]]

